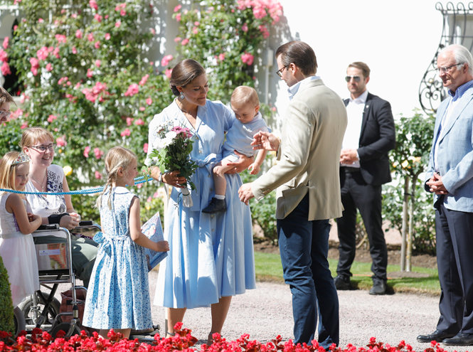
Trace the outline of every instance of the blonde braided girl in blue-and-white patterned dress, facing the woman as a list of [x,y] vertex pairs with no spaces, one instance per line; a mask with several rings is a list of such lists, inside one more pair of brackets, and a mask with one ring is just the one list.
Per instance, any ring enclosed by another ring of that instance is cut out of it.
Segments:
[[107,338],[114,329],[129,337],[131,329],[152,329],[148,266],[144,247],[169,250],[168,242],[153,242],[141,231],[139,199],[125,186],[133,186],[137,156],[115,146],[105,156],[107,184],[97,199],[102,233],[85,300],[84,326],[100,329]]

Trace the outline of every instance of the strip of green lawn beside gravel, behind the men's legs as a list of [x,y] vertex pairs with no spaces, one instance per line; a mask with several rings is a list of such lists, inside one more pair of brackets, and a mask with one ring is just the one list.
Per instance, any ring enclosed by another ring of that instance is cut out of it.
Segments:
[[[329,259],[330,270],[336,275],[337,260]],[[284,282],[282,279],[282,265],[280,256],[272,253],[255,252],[256,279],[258,281]],[[440,284],[437,270],[425,267],[413,267],[413,272],[427,274],[428,277],[402,277],[390,278],[390,272],[398,272],[399,265],[388,265],[388,291],[391,292],[418,292],[427,294],[440,294]],[[351,277],[351,285],[357,289],[370,289],[373,285],[371,280],[371,262],[354,262],[351,267],[354,274]]]

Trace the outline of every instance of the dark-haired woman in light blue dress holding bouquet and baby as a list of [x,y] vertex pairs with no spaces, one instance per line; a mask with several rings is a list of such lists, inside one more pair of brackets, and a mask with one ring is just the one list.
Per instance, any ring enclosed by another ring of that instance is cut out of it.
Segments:
[[[186,309],[211,306],[212,334],[222,330],[231,297],[255,289],[255,260],[250,207],[238,198],[242,181],[238,172],[246,169],[253,158],[241,155],[234,174],[226,176],[226,213],[206,214],[201,209],[215,195],[212,167],[220,161],[225,132],[235,121],[235,115],[221,102],[206,99],[208,81],[205,69],[195,60],[186,59],[174,67],[171,90],[176,100],[149,124],[149,152],[157,149],[156,127],[173,121],[191,129],[193,151],[191,159],[198,163],[192,181],[192,205],[184,206],[179,171],[160,174],[152,169],[152,177],[172,187],[166,213],[164,239],[169,242],[169,255],[159,267],[154,304],[168,307],[169,335],[174,324],[184,319]],[[146,164],[151,162],[147,157]]]

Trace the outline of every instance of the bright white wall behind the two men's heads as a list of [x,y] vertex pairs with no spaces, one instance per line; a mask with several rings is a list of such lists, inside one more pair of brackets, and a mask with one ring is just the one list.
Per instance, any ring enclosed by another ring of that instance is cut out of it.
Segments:
[[[312,46],[319,64],[317,74],[341,97],[348,97],[346,67],[352,61],[363,61],[371,68],[368,90],[388,100],[395,116],[420,109],[420,80],[442,35],[437,0],[280,2],[292,39]],[[442,1],[444,8],[446,3]],[[273,50],[277,45],[270,44]],[[287,86],[277,82],[276,70],[272,68],[270,84],[279,85],[275,105],[284,114],[289,102]]]

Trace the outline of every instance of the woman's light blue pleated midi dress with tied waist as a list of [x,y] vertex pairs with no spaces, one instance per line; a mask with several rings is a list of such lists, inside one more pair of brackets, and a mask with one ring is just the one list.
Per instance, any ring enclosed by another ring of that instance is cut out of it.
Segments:
[[156,125],[168,119],[191,129],[195,139],[191,158],[200,167],[192,176],[196,190],[191,191],[191,208],[183,206],[181,190],[172,188],[164,228],[170,250],[160,263],[154,304],[188,309],[209,306],[220,297],[256,288],[251,212],[238,198],[243,184],[240,176],[226,175],[225,213],[201,213],[215,195],[212,168],[222,157],[224,132],[235,116],[221,102],[207,100],[198,107],[194,129],[173,102],[149,124],[149,151],[159,143]]

